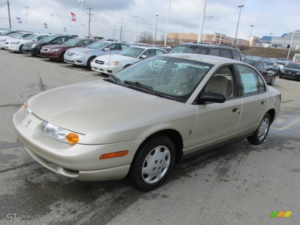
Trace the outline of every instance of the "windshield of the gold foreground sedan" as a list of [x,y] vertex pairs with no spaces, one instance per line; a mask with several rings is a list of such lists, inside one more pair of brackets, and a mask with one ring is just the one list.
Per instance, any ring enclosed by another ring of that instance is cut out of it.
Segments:
[[164,98],[186,102],[212,67],[199,61],[157,55],[126,67],[115,77],[129,88],[146,87]]

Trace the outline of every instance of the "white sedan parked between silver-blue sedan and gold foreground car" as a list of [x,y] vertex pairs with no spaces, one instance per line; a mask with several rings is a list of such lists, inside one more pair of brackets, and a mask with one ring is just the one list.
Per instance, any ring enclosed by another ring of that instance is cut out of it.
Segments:
[[130,46],[115,55],[101,55],[91,62],[91,69],[113,75],[137,61],[167,53],[165,50],[148,46]]

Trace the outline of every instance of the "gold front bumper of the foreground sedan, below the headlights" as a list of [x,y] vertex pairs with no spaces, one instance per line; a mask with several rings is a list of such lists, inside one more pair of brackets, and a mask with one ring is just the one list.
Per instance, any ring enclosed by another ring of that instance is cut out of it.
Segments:
[[[82,181],[103,181],[124,178],[134,154],[143,140],[99,145],[67,144],[54,140],[41,131],[43,120],[24,107],[13,116],[19,140],[38,163],[62,176]],[[99,160],[100,155],[129,150],[128,155]]]

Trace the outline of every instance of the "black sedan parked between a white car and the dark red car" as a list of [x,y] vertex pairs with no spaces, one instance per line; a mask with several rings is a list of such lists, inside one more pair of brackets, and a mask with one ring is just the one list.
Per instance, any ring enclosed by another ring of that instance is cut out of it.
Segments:
[[63,44],[64,42],[72,39],[74,37],[67,35],[52,35],[46,38],[41,39],[40,41],[28,42],[23,45],[22,51],[23,53],[31,54],[31,55],[40,55],[41,49],[45,45],[49,44]]

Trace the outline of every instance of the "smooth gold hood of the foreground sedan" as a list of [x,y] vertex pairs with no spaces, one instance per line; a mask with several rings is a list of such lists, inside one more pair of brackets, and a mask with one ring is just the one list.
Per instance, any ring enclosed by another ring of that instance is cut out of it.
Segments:
[[51,89],[29,99],[36,116],[81,134],[161,123],[175,112],[187,115],[183,104],[104,80]]

